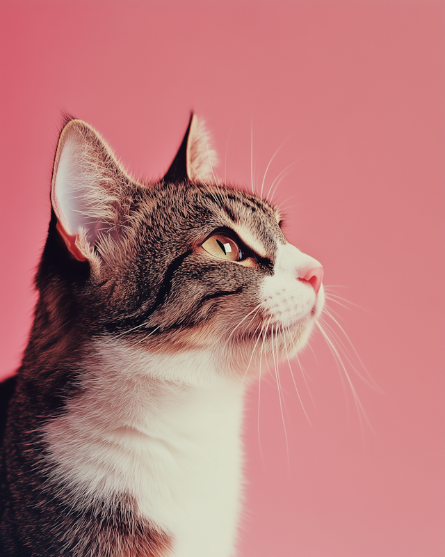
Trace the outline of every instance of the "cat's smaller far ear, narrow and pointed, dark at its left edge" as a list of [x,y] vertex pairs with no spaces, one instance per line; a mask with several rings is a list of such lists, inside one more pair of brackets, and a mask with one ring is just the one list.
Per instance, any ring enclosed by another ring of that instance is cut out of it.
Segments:
[[216,151],[204,120],[191,114],[184,139],[164,176],[165,182],[191,180],[191,182],[215,182],[213,166],[218,163]]

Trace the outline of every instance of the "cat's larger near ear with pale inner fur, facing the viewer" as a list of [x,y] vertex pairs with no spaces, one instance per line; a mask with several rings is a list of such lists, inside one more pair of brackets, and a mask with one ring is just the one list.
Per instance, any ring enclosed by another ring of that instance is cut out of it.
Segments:
[[58,233],[76,259],[88,259],[99,237],[118,237],[125,178],[90,125],[81,120],[65,125],[54,159],[51,205]]

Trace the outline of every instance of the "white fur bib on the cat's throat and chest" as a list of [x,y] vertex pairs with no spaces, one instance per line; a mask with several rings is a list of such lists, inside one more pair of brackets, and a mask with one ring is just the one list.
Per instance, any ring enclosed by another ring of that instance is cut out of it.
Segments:
[[175,557],[234,554],[243,387],[211,353],[147,354],[102,338],[83,393],[44,427],[53,478],[77,505],[130,494],[174,540]]

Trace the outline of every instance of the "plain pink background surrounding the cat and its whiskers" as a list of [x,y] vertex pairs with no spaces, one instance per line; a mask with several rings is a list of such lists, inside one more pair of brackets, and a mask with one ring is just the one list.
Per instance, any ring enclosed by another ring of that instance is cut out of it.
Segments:
[[[380,391],[320,334],[246,412],[243,557],[445,555],[443,1],[1,1],[1,375],[19,363],[63,110],[138,175],[194,109],[227,177],[269,186]],[[337,329],[338,331],[338,329]],[[359,366],[356,356],[351,363]],[[309,393],[310,391],[310,393]],[[259,444],[261,439],[261,450]],[[262,453],[262,456],[261,456]],[[289,462],[289,464],[288,464]]]

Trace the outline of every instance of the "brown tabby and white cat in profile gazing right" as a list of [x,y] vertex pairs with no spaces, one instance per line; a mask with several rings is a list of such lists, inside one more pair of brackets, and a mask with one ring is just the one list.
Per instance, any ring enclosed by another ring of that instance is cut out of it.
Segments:
[[307,342],[323,267],[214,159],[192,114],[141,183],[67,118],[33,327],[2,386],[1,555],[235,554],[245,389]]

